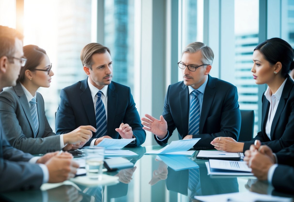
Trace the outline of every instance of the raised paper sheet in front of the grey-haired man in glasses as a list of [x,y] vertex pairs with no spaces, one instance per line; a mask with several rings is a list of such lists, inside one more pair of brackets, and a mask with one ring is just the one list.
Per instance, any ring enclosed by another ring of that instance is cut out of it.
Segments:
[[[191,149],[201,138],[193,138],[188,140],[176,140],[172,141],[169,145],[166,145],[160,150],[151,150],[145,154],[168,154],[171,152],[182,152]],[[173,155],[176,155],[173,153]]]

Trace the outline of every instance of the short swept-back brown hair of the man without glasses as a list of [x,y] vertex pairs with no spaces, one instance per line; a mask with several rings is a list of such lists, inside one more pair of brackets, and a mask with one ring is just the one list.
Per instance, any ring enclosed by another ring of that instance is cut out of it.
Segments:
[[98,43],[90,43],[83,47],[81,51],[81,61],[83,66],[86,66],[92,69],[92,55],[95,53],[106,53],[106,51],[110,54],[110,50],[108,47],[103,46]]

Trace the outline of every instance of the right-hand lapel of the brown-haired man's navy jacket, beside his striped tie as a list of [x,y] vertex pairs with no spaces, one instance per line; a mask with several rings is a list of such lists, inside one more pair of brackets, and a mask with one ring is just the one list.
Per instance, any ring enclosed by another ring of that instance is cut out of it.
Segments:
[[111,82],[107,90],[107,135],[113,137],[114,118],[117,109],[117,93],[115,92],[115,86]]

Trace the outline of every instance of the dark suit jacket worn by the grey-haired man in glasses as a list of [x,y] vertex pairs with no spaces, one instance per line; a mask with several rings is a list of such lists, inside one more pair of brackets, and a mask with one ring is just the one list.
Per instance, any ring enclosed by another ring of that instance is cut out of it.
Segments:
[[[188,134],[189,110],[188,86],[183,81],[170,85],[162,113],[168,124],[169,137],[176,128],[180,140],[186,135],[192,135]],[[208,75],[200,115],[199,135],[193,135],[193,138],[201,138],[201,140],[194,145],[194,148],[214,149],[210,144],[211,141],[221,136],[238,140],[240,127],[241,114],[237,88]],[[160,145],[167,144],[168,138],[164,141],[158,141],[155,135],[154,138]]]

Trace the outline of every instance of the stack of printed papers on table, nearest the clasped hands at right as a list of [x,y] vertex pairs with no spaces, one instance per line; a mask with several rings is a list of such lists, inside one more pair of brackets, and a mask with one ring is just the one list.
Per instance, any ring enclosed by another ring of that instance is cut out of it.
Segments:
[[205,164],[208,175],[253,175],[245,161],[209,159]]

